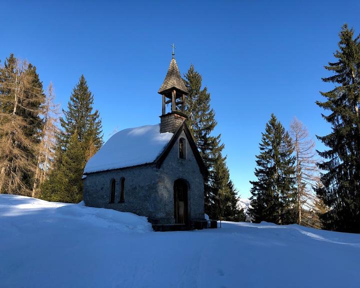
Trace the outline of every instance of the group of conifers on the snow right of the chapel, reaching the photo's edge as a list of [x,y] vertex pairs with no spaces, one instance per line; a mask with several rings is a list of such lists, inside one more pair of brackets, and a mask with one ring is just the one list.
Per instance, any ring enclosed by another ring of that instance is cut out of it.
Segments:
[[[316,104],[331,132],[316,137],[327,147],[314,152],[314,142],[294,120],[290,133],[272,114],[265,126],[250,181],[255,222],[299,223],[336,231],[360,232],[360,35],[344,24],[339,32],[332,73]],[[320,158],[317,159],[316,156]]]

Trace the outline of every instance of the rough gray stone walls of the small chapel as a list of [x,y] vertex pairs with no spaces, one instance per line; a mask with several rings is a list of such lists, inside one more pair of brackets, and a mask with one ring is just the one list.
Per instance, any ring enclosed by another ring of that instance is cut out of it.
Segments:
[[[185,138],[185,159],[179,158],[178,141]],[[119,202],[124,177],[124,201]],[[110,201],[111,179],[115,179],[115,202]],[[203,177],[182,131],[162,165],[155,163],[89,173],[84,180],[83,199],[87,206],[112,208],[154,218],[159,224],[174,223],[173,185],[187,183],[188,219],[204,219]]]

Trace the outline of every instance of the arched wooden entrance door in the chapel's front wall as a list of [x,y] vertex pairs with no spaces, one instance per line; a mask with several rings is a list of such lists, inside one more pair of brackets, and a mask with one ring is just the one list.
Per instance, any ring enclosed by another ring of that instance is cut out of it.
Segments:
[[187,184],[181,179],[174,182],[174,218],[176,224],[187,224]]

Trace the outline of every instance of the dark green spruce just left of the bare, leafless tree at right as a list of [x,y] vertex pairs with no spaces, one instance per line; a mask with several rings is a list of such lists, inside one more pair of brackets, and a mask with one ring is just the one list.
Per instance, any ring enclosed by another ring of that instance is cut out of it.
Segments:
[[291,138],[274,114],[265,125],[256,155],[250,213],[255,222],[296,222],[295,167]]

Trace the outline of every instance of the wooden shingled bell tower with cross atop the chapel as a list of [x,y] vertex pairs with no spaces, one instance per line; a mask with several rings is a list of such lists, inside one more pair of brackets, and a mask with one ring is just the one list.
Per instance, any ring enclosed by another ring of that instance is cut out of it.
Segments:
[[[162,95],[162,113],[160,116],[160,133],[175,132],[178,126],[187,118],[185,115],[185,95],[187,88],[180,76],[180,71],[175,60],[172,44],[172,59],[165,79],[157,93]],[[171,103],[171,110],[166,112],[166,105]]]

